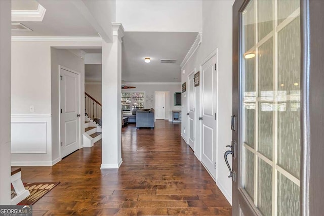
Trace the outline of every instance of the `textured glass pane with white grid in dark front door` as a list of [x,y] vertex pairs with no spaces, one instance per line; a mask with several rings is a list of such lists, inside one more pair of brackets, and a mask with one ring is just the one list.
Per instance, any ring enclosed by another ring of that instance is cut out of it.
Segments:
[[260,215],[299,214],[299,1],[249,1],[241,16],[240,188]]

